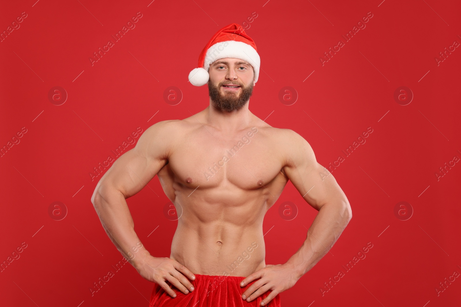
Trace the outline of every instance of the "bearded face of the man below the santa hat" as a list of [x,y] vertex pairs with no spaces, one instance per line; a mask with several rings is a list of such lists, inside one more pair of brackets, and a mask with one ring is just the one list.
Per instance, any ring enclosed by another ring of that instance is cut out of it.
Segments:
[[[244,60],[221,58],[210,65],[208,74],[208,93],[218,110],[240,110],[253,93],[254,70]],[[227,85],[237,87],[226,87]]]

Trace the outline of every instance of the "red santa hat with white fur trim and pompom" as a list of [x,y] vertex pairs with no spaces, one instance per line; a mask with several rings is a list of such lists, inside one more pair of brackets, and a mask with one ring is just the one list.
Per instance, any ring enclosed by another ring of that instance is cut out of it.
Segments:
[[197,87],[207,84],[210,78],[210,64],[220,58],[239,58],[247,61],[253,66],[254,82],[258,81],[260,57],[254,41],[241,25],[231,23],[213,35],[200,53],[199,68],[194,68],[189,73],[190,83]]

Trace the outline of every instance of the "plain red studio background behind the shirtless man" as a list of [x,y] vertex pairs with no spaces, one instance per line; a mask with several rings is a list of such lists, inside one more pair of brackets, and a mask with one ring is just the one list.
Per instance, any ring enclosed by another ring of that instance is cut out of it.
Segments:
[[[187,76],[209,38],[229,23],[242,24],[261,58],[249,109],[300,133],[320,164],[328,167],[373,129],[332,172],[352,220],[330,252],[281,293],[283,306],[460,303],[460,278],[436,290],[461,273],[460,163],[439,180],[435,175],[461,157],[460,48],[435,60],[461,42],[459,2],[4,1],[0,30],[22,12],[20,28],[0,43],[0,145],[27,129],[0,158],[0,261],[23,242],[27,248],[0,273],[0,305],[148,306],[154,284],[129,264],[91,296],[89,288],[122,255],[90,202],[101,176],[92,181],[89,174],[137,127],[207,107],[207,86],[194,87]],[[93,53],[137,12],[136,27],[92,65]],[[368,12],[366,28],[345,42],[342,35]],[[322,65],[339,40],[345,46]],[[48,99],[56,86],[68,95],[64,104]],[[171,86],[181,92],[171,96],[182,95],[179,104],[164,99]],[[294,91],[284,104],[278,96],[287,86]],[[414,95],[407,105],[394,99],[402,86]],[[163,214],[169,201],[158,178],[148,186],[127,199],[135,230],[152,255],[169,257],[177,221]],[[67,209],[62,220],[48,213],[56,201]],[[293,220],[278,214],[287,201],[298,210]],[[402,201],[409,205],[394,214]],[[411,218],[402,220],[410,206]],[[316,213],[289,182],[264,220],[267,264],[296,252]],[[366,258],[345,272],[369,242]],[[328,290],[324,283],[340,270],[345,276]]]

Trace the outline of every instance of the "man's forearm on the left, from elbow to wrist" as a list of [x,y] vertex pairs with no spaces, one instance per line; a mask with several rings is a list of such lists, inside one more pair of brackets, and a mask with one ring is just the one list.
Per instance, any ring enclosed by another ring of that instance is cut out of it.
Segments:
[[92,202],[112,243],[137,269],[150,253],[136,235],[133,218],[124,195],[115,189],[100,188],[95,191]]

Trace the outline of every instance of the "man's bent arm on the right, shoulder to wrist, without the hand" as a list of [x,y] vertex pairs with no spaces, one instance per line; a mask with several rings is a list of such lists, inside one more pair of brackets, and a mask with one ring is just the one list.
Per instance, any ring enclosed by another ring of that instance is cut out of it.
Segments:
[[319,211],[306,241],[286,263],[293,266],[297,280],[331,249],[352,218],[352,210],[343,190],[317,162],[307,141],[292,130],[287,133],[284,172],[304,200]]

